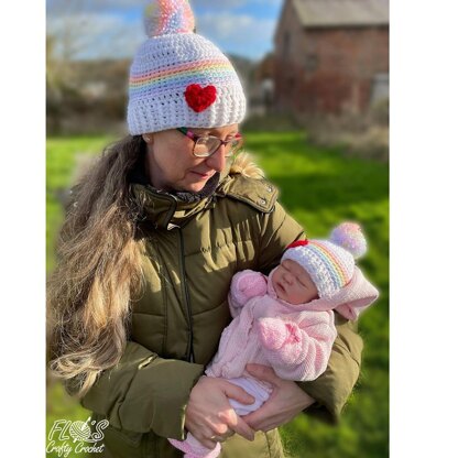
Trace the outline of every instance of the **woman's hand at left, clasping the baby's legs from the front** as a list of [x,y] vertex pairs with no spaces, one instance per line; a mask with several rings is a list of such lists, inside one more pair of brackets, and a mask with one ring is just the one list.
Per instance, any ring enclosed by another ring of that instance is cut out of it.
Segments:
[[216,440],[222,441],[233,433],[254,439],[254,432],[236,414],[228,397],[242,404],[254,402],[240,386],[212,377],[200,378],[190,392],[185,426],[207,448],[214,448]]

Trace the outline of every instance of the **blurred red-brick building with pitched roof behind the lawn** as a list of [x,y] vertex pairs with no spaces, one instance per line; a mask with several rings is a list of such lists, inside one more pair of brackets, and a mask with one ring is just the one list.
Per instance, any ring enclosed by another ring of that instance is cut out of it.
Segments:
[[389,96],[388,0],[285,0],[275,31],[274,103],[361,113]]

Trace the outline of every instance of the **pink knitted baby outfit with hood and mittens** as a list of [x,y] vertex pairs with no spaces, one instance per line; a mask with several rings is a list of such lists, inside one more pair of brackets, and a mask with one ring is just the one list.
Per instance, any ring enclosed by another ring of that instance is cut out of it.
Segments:
[[[316,379],[326,370],[337,336],[332,310],[338,309],[346,318],[356,319],[379,295],[355,266],[350,283],[331,298],[292,305],[277,297],[271,281],[274,271],[269,277],[250,270],[233,276],[229,294],[233,320],[225,328],[218,352],[206,370],[208,377],[226,378],[242,388],[246,388],[243,380],[251,380],[254,390],[247,391],[258,401],[252,411],[269,397],[271,388],[246,372],[248,363],[270,366],[285,380]],[[239,415],[247,414],[239,413],[239,406],[231,404]],[[171,441],[186,451],[186,458],[219,455],[219,444],[212,450],[200,444],[197,449],[193,447],[195,440],[188,434],[183,443]]]

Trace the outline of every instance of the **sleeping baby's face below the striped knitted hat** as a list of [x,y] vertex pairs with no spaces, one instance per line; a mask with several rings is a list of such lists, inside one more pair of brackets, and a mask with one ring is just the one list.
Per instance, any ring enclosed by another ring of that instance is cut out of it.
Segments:
[[272,286],[279,298],[293,305],[318,298],[318,290],[310,275],[291,259],[284,260],[272,274]]

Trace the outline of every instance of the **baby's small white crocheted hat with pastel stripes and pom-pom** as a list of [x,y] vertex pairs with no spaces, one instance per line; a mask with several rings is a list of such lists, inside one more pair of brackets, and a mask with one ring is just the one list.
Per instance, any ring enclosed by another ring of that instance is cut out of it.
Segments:
[[367,251],[361,228],[355,222],[337,226],[329,240],[298,240],[291,243],[282,261],[291,259],[305,269],[319,297],[330,298],[353,276],[355,259]]

